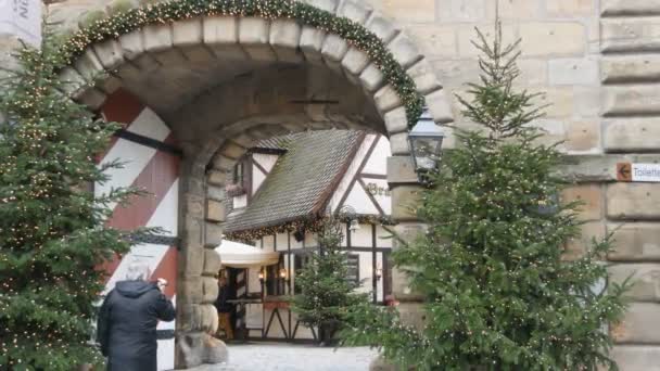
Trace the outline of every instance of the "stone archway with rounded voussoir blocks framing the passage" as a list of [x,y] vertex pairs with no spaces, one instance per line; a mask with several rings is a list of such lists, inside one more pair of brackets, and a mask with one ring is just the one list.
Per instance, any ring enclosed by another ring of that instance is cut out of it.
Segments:
[[[378,36],[415,81],[433,119],[452,120],[429,62],[402,29],[363,1],[306,2]],[[211,235],[219,235],[221,220],[207,220],[207,192],[225,182],[224,170],[259,136],[308,128],[385,133],[393,153],[388,179],[393,218],[415,228],[416,217],[401,206],[415,202],[419,190],[408,158],[406,110],[378,66],[339,35],[293,20],[199,16],[91,44],[62,71],[68,92],[91,110],[119,87],[131,91],[161,115],[183,148],[178,367],[207,360],[212,344],[204,334],[217,327],[211,303],[219,261],[207,247],[215,246]],[[93,87],[85,82],[91,79]],[[397,281],[395,292],[404,296],[405,282]]]

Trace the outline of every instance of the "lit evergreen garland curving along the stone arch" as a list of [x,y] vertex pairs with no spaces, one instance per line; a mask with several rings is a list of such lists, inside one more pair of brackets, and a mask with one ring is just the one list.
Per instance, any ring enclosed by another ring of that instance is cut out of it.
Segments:
[[147,25],[213,15],[292,18],[303,25],[337,34],[367,53],[378,66],[402,100],[409,128],[421,116],[423,95],[417,91],[412,78],[376,34],[346,17],[294,0],[170,0],[125,10],[90,22],[88,27],[74,33],[60,47],[60,63],[64,68],[89,46],[118,38]]

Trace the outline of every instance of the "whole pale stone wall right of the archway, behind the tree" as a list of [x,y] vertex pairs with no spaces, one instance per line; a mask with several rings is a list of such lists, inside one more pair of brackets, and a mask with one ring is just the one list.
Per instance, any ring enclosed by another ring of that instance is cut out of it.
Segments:
[[[496,3],[503,35],[522,38],[520,87],[550,103],[537,125],[546,140],[563,140],[582,200],[583,236],[614,232],[612,279],[635,274],[630,311],[611,331],[622,370],[660,364],[660,183],[618,183],[617,162],[660,162],[660,1],[657,0],[372,0],[398,21],[433,65],[445,90],[465,91],[478,77],[474,27],[493,34]],[[458,125],[459,106],[453,106]],[[394,169],[393,169],[394,170]]]

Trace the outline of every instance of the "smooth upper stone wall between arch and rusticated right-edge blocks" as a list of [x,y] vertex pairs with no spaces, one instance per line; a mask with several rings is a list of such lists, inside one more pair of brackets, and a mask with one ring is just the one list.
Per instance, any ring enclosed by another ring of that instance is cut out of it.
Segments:
[[[475,27],[492,37],[497,0],[372,0],[417,41],[440,81],[454,93],[478,78]],[[522,38],[521,87],[551,103],[537,124],[574,154],[602,153],[596,0],[499,0],[506,41]],[[458,104],[454,114],[460,121]]]

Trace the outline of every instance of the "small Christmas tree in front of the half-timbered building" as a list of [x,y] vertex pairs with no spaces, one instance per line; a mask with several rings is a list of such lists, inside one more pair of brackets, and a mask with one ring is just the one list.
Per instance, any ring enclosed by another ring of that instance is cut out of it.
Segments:
[[343,238],[341,222],[328,217],[318,233],[320,252],[313,254],[295,276],[301,294],[293,298],[293,311],[302,323],[318,329],[319,341],[326,344],[344,325],[348,309],[368,300],[366,294],[355,292],[358,283],[346,279],[348,265],[341,246]]

